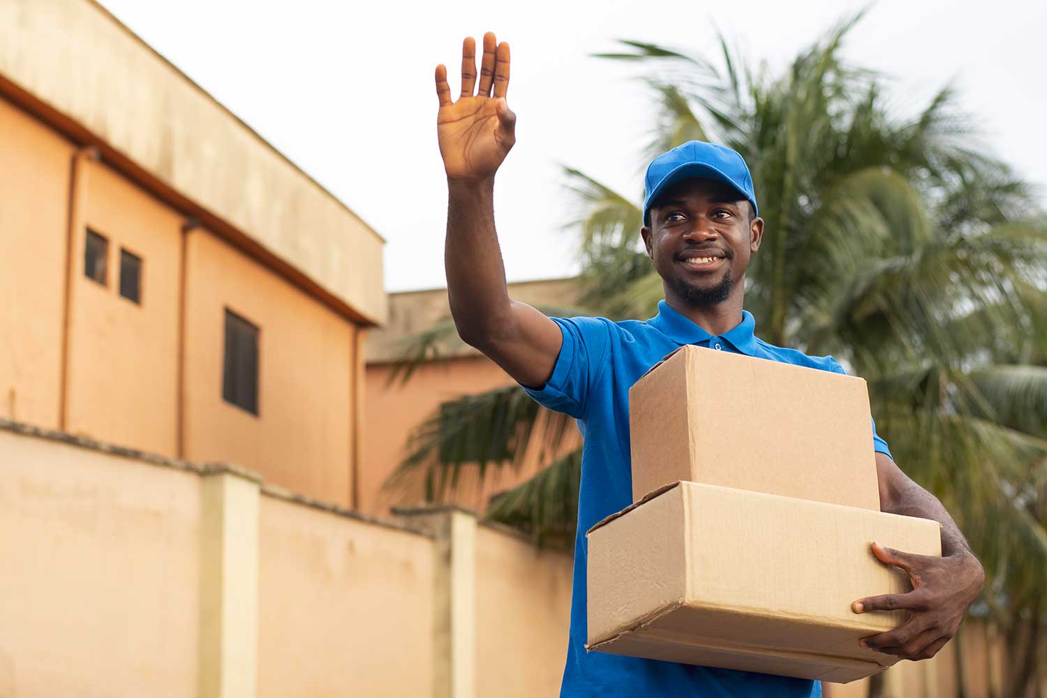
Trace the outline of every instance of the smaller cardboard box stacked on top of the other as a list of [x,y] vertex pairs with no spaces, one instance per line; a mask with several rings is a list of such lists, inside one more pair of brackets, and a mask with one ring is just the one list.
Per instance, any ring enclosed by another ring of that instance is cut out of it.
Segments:
[[629,433],[633,501],[690,480],[879,511],[861,378],[683,346],[630,388]]

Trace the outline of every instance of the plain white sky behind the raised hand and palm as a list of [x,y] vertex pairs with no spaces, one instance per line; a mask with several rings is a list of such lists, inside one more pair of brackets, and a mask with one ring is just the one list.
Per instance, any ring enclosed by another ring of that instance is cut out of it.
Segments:
[[[509,104],[517,140],[495,207],[509,280],[577,270],[559,164],[623,194],[642,190],[647,93],[618,62],[588,58],[636,39],[717,52],[714,27],[751,62],[781,67],[864,2],[606,0],[522,3],[296,0],[102,0],[371,224],[389,291],[445,284],[446,184],[432,71],[456,94],[463,37],[512,45]],[[886,72],[910,109],[953,81],[985,141],[1047,200],[1044,43],[1047,3],[881,0],[845,55]],[[759,195],[759,193],[757,193]],[[773,231],[771,231],[773,232]]]

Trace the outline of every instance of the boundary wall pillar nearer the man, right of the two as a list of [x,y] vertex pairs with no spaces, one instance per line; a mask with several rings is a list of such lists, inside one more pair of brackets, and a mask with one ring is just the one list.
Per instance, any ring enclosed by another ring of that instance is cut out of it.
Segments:
[[394,509],[436,537],[433,698],[476,698],[476,515],[456,506]]

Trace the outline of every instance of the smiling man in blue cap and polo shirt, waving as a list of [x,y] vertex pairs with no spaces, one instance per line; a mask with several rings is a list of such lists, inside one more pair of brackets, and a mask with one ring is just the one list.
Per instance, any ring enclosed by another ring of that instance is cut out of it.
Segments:
[[[475,42],[466,39],[458,102],[451,99],[446,68],[437,67],[437,130],[449,193],[447,291],[462,338],[539,403],[576,418],[585,437],[561,695],[820,695],[820,684],[809,680],[585,650],[584,532],[631,503],[629,386],[683,344],[822,370],[843,369],[831,357],[808,357],[754,336],[755,320],[742,310],[742,297],[745,270],[763,238],[763,221],[744,161],[734,151],[711,143],[686,143],[656,158],[647,171],[640,232],[665,291],[655,317],[645,322],[554,319],[509,298],[493,209],[494,174],[515,141],[516,116],[506,104],[509,63],[509,45],[486,35],[474,95]],[[873,544],[879,560],[909,573],[914,589],[856,600],[853,610],[910,611],[901,627],[862,641],[881,652],[923,659],[934,656],[956,632],[981,591],[984,573],[941,503],[894,465],[875,431],[873,448],[882,510],[939,521],[942,557]]]

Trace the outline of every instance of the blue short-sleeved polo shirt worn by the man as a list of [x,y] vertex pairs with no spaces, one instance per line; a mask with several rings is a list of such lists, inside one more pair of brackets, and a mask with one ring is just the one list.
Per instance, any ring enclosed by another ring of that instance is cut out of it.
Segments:
[[[758,339],[753,334],[756,323],[748,311],[742,312],[740,324],[719,336],[710,335],[664,300],[659,302],[659,314],[644,322],[611,322],[601,317],[553,320],[563,334],[553,375],[540,390],[525,389],[545,407],[575,418],[585,440],[571,637],[561,698],[821,696],[821,683],[817,681],[586,652],[585,532],[632,503],[629,387],[676,347],[696,344],[838,374],[844,373],[843,368],[832,357],[811,357]],[[875,425],[872,446],[890,455],[887,443],[876,435]]]

